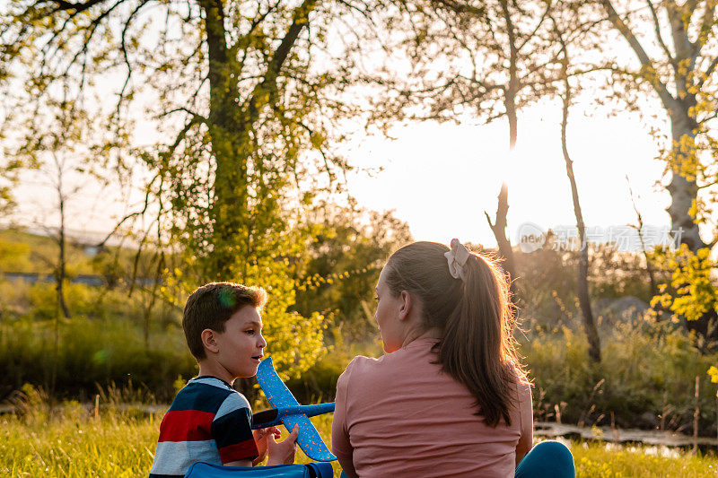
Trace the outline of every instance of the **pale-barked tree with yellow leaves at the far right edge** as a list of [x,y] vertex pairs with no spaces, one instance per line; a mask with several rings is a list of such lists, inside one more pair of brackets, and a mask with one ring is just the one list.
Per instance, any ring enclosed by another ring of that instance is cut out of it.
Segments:
[[[715,0],[688,0],[683,4],[672,0],[638,4],[601,0],[600,9],[609,24],[631,49],[638,60],[635,65],[608,59],[614,94],[629,106],[638,107],[644,92],[652,93],[661,104],[670,123],[670,142],[661,151],[671,204],[668,208],[672,229],[680,238],[677,252],[659,251],[662,265],[673,274],[674,300],[666,295],[659,301],[687,319],[686,326],[700,335],[718,337],[715,312],[718,307],[706,299],[711,294],[694,294],[694,286],[705,285],[705,260],[718,242],[715,224],[712,239],[705,242],[700,228],[713,222],[716,204],[715,161],[718,141],[714,124],[718,109],[718,18]],[[684,247],[685,246],[685,247]],[[695,284],[684,283],[693,278]],[[681,285],[682,284],[682,285]],[[703,284],[703,285],[698,285]],[[666,291],[666,286],[662,286]],[[667,292],[666,292],[667,293]],[[698,297],[700,296],[700,297]],[[687,308],[687,302],[692,305]],[[672,304],[672,305],[671,305]],[[703,316],[696,316],[702,310]],[[712,311],[713,310],[713,311]],[[685,314],[685,315],[684,315]]]

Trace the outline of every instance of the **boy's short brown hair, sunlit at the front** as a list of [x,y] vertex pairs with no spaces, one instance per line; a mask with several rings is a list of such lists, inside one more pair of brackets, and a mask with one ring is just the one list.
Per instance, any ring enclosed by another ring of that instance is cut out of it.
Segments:
[[210,282],[192,292],[182,313],[182,328],[189,352],[197,360],[206,358],[202,331],[206,328],[224,332],[224,323],[239,309],[252,306],[261,309],[267,303],[267,292],[261,287],[247,287],[233,282]]

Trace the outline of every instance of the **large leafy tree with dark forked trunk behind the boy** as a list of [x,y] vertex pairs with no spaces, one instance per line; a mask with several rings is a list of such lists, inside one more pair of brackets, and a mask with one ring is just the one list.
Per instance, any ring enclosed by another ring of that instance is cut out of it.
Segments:
[[[347,1],[24,0],[0,24],[6,92],[30,131],[58,95],[101,118],[96,161],[125,181],[147,178],[144,204],[120,222],[153,214],[147,230],[185,254],[174,278],[185,294],[217,279],[265,285],[276,357],[285,351],[295,370],[311,363],[321,331],[307,330],[317,317],[287,311],[286,257],[306,239],[294,213],[311,201],[302,188],[347,167],[330,142],[337,116],[354,111],[338,99],[351,61],[329,61],[328,25],[363,18],[356,11]],[[138,128],[151,146],[137,145]]]

